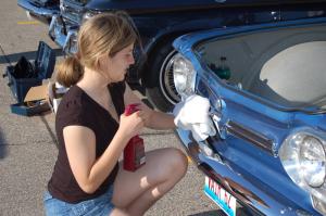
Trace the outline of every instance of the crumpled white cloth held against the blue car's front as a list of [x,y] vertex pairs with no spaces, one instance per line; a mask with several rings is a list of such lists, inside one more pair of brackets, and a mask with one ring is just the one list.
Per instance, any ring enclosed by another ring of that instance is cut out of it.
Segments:
[[177,127],[191,130],[196,141],[203,141],[209,136],[216,135],[210,118],[210,101],[206,98],[192,94],[177,103],[173,110],[174,123]]

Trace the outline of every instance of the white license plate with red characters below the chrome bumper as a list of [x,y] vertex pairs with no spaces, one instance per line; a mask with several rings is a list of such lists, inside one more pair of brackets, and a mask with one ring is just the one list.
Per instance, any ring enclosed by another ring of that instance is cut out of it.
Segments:
[[236,216],[237,199],[208,176],[205,176],[204,192],[228,216]]

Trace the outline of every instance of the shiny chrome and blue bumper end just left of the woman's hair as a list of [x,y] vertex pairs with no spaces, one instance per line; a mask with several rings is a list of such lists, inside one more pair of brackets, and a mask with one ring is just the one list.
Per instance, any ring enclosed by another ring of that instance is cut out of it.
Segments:
[[49,36],[62,48],[64,53],[73,54],[76,52],[77,31],[77,26],[65,26],[60,16],[52,16]]

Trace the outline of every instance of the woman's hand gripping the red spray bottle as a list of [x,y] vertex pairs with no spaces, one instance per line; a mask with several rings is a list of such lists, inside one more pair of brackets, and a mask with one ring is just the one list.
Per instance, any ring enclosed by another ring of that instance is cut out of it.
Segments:
[[120,126],[117,131],[130,139],[134,136],[139,135],[143,126],[145,123],[139,115],[139,111],[128,116],[122,114],[120,116]]

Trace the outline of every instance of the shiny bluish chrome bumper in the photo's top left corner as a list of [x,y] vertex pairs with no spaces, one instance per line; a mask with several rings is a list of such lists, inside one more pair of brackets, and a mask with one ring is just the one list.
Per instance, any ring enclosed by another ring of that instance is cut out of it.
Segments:
[[39,8],[33,3],[30,3],[28,0],[17,0],[17,4],[28,11],[29,13],[40,16],[40,17],[47,17],[50,18],[55,14],[60,13],[59,8],[58,9],[47,9],[47,8]]

